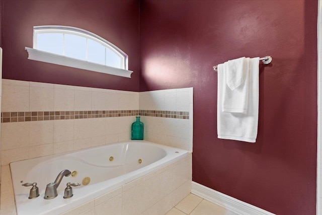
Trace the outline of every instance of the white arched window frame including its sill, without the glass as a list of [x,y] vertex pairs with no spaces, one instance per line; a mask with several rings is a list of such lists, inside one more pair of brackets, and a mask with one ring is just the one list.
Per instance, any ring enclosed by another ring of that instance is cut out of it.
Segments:
[[[64,50],[63,50],[63,55],[38,50],[37,49],[38,33],[73,34],[73,35],[82,36],[87,39],[94,40],[102,44],[106,48],[109,48],[118,56],[120,56],[122,68],[115,68],[112,66],[89,62],[86,60],[67,57],[67,56],[64,56]],[[69,66],[74,68],[97,71],[99,73],[106,73],[106,74],[121,76],[126,78],[131,78],[131,74],[133,73],[133,71],[128,70],[128,55],[124,51],[122,51],[120,48],[118,48],[116,45],[112,44],[111,42],[105,40],[104,38],[80,28],[69,27],[69,26],[35,26],[34,33],[33,33],[33,48],[25,47],[25,49],[28,52],[28,59],[31,59],[31,60],[37,60],[37,61],[64,65],[64,66]]]

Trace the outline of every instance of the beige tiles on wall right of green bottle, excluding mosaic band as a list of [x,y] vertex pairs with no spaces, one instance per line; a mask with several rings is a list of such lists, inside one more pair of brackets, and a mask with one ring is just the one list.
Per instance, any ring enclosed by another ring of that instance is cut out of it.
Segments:
[[164,118],[142,116],[144,138],[192,152],[193,88],[141,92],[140,110],[177,111],[189,117]]

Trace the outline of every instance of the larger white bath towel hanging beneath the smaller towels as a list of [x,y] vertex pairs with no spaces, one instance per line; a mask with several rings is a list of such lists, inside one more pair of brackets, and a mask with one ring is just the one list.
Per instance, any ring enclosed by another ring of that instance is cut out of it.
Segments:
[[217,133],[220,139],[256,142],[259,104],[259,57],[249,60],[248,111],[242,113],[222,112],[224,82],[223,64],[218,65]]

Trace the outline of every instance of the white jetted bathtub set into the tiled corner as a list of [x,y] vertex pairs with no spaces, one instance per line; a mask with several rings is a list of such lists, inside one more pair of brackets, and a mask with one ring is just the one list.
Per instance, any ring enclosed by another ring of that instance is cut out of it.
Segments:
[[[186,150],[147,141],[125,141],[60,156],[47,156],[10,164],[16,208],[21,214],[59,214],[84,204],[147,173],[189,154]],[[110,157],[114,160],[111,162]],[[141,159],[139,164],[138,160]],[[46,185],[54,182],[60,171],[77,171],[75,177],[63,177],[53,199],[44,199]],[[64,199],[67,182],[88,185],[73,187],[73,196]],[[21,182],[23,181],[23,182]],[[22,183],[37,182],[40,196],[28,199],[31,187]]]

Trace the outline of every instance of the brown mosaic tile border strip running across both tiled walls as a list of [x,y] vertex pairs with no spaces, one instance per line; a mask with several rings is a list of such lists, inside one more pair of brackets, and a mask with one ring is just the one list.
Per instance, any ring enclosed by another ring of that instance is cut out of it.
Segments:
[[95,110],[95,111],[31,111],[2,112],[1,122],[28,122],[60,119],[87,119],[121,116],[154,116],[177,119],[189,119],[187,111],[159,110]]

